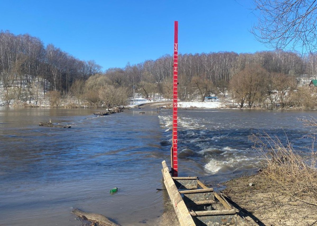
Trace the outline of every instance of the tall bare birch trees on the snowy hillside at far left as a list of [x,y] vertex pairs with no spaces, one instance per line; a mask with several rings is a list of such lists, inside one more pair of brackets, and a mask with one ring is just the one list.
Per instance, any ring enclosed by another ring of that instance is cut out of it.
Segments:
[[43,92],[67,93],[74,81],[87,80],[101,71],[95,61],[81,61],[29,34],[14,35],[0,31],[0,82],[7,99],[34,98],[36,83]]

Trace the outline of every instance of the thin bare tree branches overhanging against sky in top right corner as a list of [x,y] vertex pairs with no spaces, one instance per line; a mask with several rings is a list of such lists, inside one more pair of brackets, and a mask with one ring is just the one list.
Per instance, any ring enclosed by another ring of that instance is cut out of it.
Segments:
[[252,33],[269,47],[317,50],[316,0],[255,0],[258,23]]

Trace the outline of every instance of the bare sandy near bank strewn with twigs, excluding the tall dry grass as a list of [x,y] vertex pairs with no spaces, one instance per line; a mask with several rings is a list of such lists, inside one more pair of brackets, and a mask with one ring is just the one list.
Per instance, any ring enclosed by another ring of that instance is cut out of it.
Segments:
[[227,200],[251,225],[317,225],[316,197],[288,193],[272,186],[272,181],[263,180],[261,174],[236,178],[223,185]]

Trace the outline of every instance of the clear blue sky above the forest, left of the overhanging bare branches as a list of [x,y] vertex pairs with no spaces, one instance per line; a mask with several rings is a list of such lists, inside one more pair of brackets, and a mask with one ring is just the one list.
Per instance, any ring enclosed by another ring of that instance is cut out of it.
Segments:
[[103,70],[179,53],[267,50],[249,32],[252,0],[0,0],[0,30],[29,33]]

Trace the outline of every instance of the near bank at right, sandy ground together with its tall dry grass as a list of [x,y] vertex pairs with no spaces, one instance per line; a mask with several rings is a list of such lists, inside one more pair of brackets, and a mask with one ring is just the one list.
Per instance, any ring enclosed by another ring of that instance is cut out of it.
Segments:
[[258,219],[258,225],[317,225],[315,153],[299,155],[288,141],[283,145],[268,134],[253,140],[261,169],[225,183],[223,192],[244,209],[245,216]]

